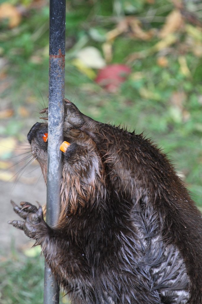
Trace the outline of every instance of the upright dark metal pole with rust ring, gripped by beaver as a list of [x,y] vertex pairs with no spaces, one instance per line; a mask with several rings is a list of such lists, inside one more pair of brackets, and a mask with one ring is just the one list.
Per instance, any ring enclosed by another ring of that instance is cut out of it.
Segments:
[[[49,114],[48,176],[46,222],[53,227],[60,212],[61,153],[63,141],[65,87],[65,18],[66,1],[50,0],[49,33]],[[44,304],[59,303],[59,284],[45,263]]]

